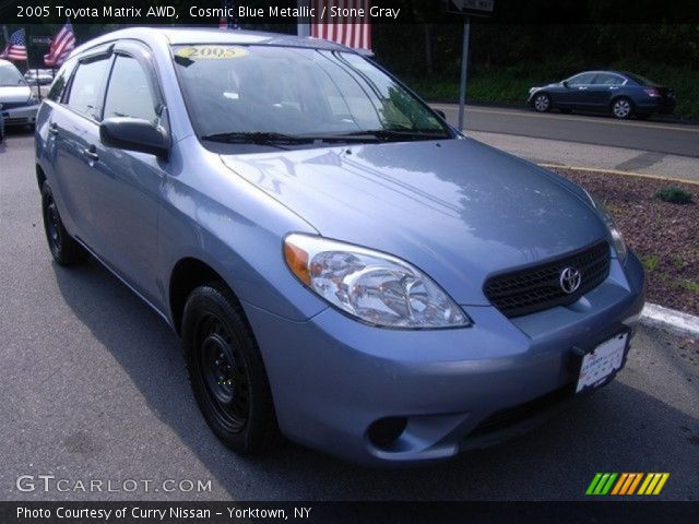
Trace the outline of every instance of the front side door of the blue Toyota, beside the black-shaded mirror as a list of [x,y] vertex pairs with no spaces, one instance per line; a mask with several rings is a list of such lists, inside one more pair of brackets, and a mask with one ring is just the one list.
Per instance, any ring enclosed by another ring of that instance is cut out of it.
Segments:
[[[107,82],[103,120],[130,117],[167,129],[165,105],[151,50],[119,43]],[[103,169],[86,181],[94,248],[119,275],[155,306],[158,210],[167,162],[154,155],[99,146]]]

